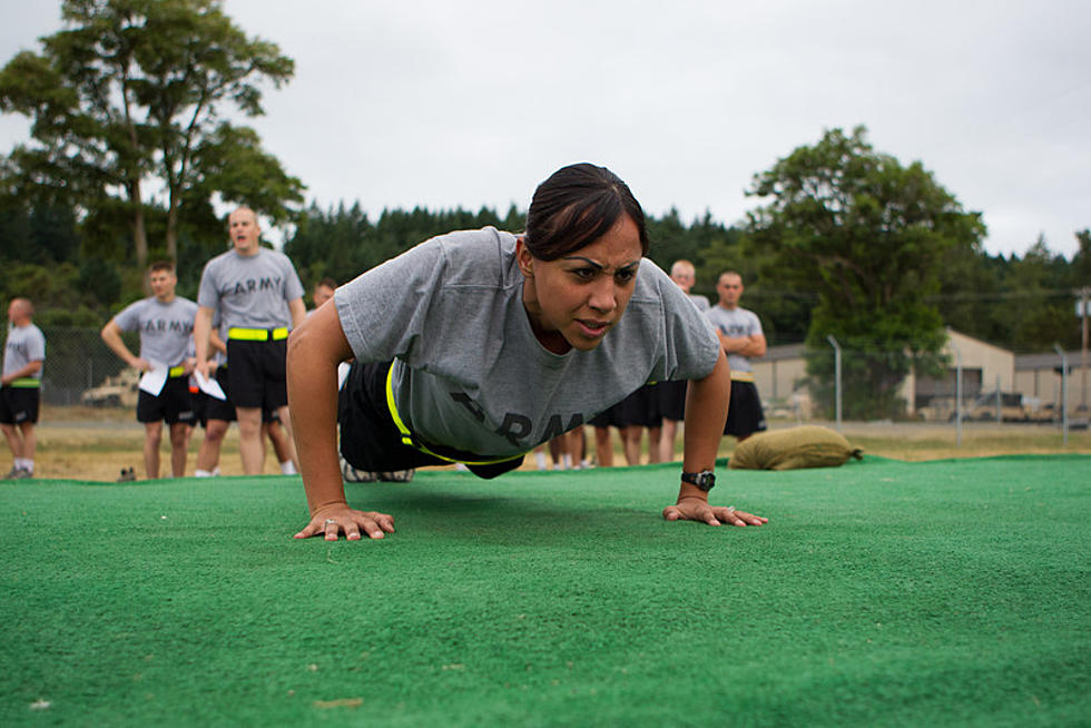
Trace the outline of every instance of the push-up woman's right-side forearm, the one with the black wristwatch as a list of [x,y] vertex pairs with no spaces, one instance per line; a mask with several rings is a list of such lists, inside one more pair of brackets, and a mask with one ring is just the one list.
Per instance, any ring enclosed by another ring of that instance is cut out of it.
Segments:
[[[712,470],[719,452],[727,405],[731,396],[731,371],[727,357],[720,353],[712,372],[704,380],[689,383],[686,393],[686,430],[684,436],[682,470],[697,473]],[[682,483],[679,498],[707,493],[689,483]]]

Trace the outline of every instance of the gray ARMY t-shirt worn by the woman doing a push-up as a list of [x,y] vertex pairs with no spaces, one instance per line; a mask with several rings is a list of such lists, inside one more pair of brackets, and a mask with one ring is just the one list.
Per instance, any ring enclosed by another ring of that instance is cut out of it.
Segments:
[[521,454],[650,381],[701,378],[716,365],[708,322],[647,259],[628,308],[597,348],[547,351],[531,331],[514,253],[510,233],[451,233],[334,294],[356,358],[396,358],[399,414],[426,442]]

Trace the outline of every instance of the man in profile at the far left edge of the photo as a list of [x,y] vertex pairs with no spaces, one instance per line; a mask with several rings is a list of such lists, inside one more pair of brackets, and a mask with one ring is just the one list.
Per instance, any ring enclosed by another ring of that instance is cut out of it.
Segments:
[[13,462],[8,479],[35,474],[35,425],[41,402],[41,366],[46,360],[46,337],[31,317],[35,307],[27,298],[13,298],[8,306],[8,341],[3,348],[0,381],[0,430],[8,440]]

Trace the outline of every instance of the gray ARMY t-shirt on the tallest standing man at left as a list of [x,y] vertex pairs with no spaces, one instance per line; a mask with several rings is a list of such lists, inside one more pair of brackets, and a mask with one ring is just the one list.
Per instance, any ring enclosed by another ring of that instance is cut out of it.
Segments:
[[286,303],[303,297],[303,284],[288,256],[268,248],[255,255],[232,249],[205,264],[197,303],[219,312],[227,326],[291,326]]

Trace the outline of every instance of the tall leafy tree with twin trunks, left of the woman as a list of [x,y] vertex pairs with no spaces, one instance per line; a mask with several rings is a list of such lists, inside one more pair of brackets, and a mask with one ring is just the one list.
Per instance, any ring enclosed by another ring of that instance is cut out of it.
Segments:
[[0,71],[0,110],[32,120],[37,144],[10,156],[26,185],[101,218],[90,223],[98,232],[126,220],[139,268],[156,200],[176,258],[195,191],[227,203],[261,196],[255,208],[275,217],[302,199],[257,135],[223,120],[229,109],[261,115],[258,82],[279,87],[294,62],[247,37],[219,0],[65,0],[61,18],[41,53],[21,52]]

